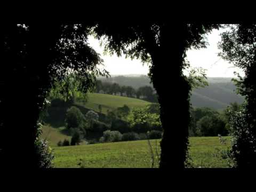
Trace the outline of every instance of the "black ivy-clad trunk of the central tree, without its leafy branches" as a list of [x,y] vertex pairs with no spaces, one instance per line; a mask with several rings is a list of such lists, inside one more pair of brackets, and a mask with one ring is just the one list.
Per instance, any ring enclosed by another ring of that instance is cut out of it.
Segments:
[[[152,53],[151,79],[158,94],[163,138],[161,168],[183,169],[186,161],[189,124],[189,85],[182,76],[186,25],[161,29],[161,46]],[[166,86],[168,79],[169,86]],[[169,92],[170,91],[170,92]]]

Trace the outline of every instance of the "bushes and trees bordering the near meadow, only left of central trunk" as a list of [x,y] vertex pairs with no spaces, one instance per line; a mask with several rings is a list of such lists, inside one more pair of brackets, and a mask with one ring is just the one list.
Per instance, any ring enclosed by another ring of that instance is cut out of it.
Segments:
[[[58,102],[58,101],[57,101]],[[108,111],[105,122],[99,121],[99,115],[88,111],[83,115],[79,108],[73,106],[66,113],[66,130],[71,140],[58,142],[58,146],[79,145],[82,140],[87,143],[134,141],[160,139],[162,125],[159,118],[159,105],[130,109],[124,105]]]

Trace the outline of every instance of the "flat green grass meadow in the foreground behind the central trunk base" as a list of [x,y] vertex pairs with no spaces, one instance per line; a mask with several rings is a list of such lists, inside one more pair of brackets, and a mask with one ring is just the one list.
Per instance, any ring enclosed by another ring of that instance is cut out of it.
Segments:
[[[159,140],[151,140],[154,153],[159,153]],[[190,138],[190,154],[195,167],[227,167],[218,149],[226,149],[218,137]],[[54,147],[55,167],[151,167],[148,141],[100,143],[70,147]],[[156,157],[156,155],[155,155]]]

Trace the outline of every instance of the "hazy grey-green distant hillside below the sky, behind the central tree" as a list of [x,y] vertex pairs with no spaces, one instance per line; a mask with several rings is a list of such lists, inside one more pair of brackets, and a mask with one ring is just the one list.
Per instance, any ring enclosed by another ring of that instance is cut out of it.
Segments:
[[[141,86],[153,86],[145,75],[137,76],[113,76],[111,78],[99,78],[101,81],[118,83],[119,85],[132,86],[138,89]],[[243,97],[236,94],[236,86],[231,78],[209,77],[209,86],[193,90],[191,103],[193,107],[211,107],[214,109],[226,108],[230,102],[243,102]]]

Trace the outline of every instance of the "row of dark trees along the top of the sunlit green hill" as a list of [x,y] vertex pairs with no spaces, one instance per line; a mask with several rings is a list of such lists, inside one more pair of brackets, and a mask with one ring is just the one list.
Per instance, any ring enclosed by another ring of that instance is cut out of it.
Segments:
[[95,92],[143,99],[149,102],[158,102],[157,94],[151,86],[141,86],[138,89],[134,89],[132,86],[121,86],[117,83],[97,80],[95,83]]

